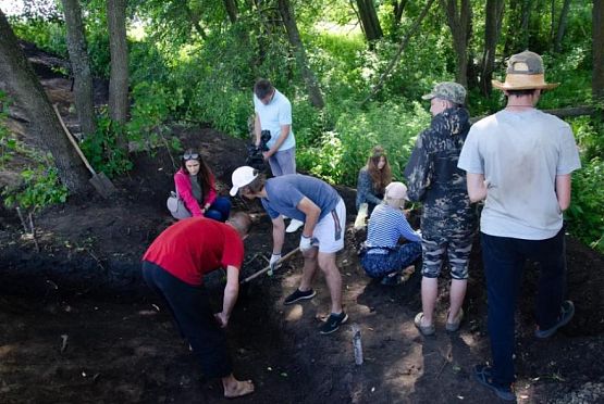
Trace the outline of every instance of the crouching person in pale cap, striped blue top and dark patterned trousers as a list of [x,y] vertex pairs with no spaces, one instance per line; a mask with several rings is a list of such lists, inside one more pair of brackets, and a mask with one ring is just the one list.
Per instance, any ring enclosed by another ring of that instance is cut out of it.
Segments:
[[[385,188],[384,201],[373,210],[361,247],[362,268],[369,277],[381,278],[383,285],[398,285],[402,272],[421,256],[421,237],[402,211],[406,200],[403,182],[391,182]],[[400,238],[407,242],[399,244]]]

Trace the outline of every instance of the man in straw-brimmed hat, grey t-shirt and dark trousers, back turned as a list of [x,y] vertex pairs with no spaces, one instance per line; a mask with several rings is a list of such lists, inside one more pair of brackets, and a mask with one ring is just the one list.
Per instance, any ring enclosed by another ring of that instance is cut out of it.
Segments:
[[485,200],[480,220],[489,299],[492,367],[474,378],[500,399],[515,401],[514,312],[527,260],[539,264],[537,338],[548,338],[570,321],[564,300],[566,258],[563,211],[570,204],[570,175],[580,168],[570,127],[535,105],[547,84],[543,61],[525,51],[508,61],[503,90],[507,105],[472,125],[459,156],[472,202]]

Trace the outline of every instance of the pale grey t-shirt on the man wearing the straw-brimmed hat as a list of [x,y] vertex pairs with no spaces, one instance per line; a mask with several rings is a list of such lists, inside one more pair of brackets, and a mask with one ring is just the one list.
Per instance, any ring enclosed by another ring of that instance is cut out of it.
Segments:
[[539,110],[500,111],[474,125],[457,166],[489,181],[480,230],[526,240],[554,237],[563,225],[556,176],[581,167],[570,126]]

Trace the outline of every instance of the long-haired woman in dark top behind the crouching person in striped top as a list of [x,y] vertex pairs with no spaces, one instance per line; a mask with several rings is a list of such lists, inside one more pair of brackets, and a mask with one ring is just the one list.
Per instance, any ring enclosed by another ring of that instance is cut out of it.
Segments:
[[368,214],[382,202],[384,189],[392,181],[392,171],[384,149],[381,146],[373,148],[367,165],[359,171],[357,180],[357,212],[361,203],[368,204]]

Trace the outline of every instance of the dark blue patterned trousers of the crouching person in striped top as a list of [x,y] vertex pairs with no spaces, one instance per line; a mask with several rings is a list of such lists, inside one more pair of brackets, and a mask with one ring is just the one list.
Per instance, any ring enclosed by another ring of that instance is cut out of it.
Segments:
[[397,245],[387,254],[372,254],[370,251],[362,256],[360,264],[369,277],[382,278],[415,263],[421,256],[421,242]]

